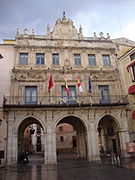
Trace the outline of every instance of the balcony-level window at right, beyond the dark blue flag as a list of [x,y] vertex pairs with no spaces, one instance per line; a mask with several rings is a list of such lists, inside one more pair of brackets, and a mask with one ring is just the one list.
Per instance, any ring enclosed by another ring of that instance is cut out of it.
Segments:
[[99,96],[100,96],[100,103],[109,103],[109,86],[108,85],[101,85],[98,86],[99,89]]

